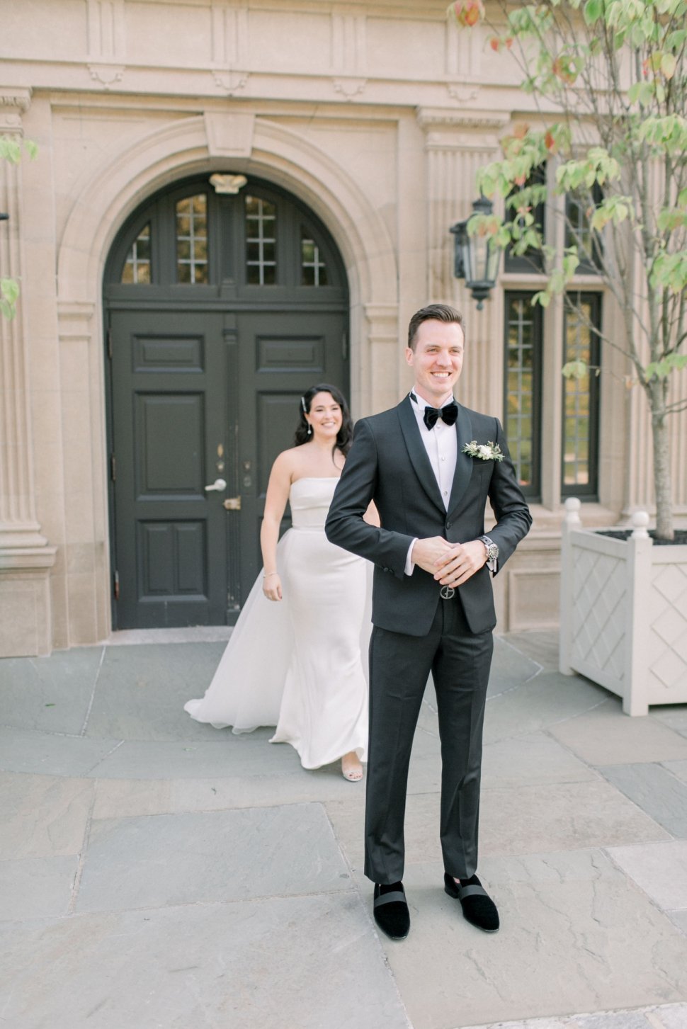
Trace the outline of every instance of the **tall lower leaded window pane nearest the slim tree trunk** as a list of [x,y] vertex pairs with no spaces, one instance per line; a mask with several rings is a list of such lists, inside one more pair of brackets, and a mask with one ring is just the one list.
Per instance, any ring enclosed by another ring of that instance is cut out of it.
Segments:
[[599,495],[600,293],[569,294],[563,362],[584,361],[586,375],[564,379],[561,496],[595,500]]

